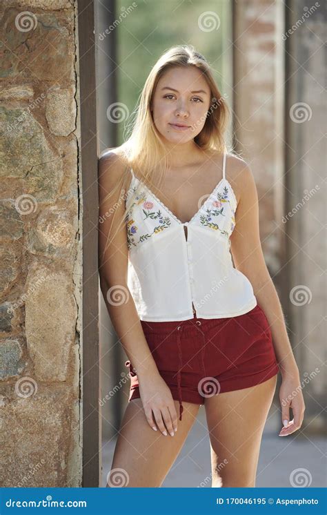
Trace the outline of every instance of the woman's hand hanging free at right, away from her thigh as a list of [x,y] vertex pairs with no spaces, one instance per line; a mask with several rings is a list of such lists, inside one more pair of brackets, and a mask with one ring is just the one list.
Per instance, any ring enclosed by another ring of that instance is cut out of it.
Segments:
[[[281,422],[284,425],[279,436],[287,436],[301,427],[306,409],[298,370],[285,371],[282,374],[279,400],[281,402]],[[290,408],[293,411],[293,420],[290,420]]]

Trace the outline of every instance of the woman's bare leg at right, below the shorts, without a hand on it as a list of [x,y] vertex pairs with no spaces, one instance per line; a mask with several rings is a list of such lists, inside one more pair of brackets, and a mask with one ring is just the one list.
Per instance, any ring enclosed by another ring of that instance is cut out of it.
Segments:
[[276,382],[277,374],[255,387],[205,399],[212,487],[255,487],[261,437]]

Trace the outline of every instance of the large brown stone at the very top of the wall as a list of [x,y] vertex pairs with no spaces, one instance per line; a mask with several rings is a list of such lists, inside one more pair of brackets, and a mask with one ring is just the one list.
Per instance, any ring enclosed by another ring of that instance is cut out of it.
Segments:
[[7,8],[1,22],[0,39],[6,50],[0,78],[75,82],[72,6],[64,12],[40,12],[28,2],[28,12],[16,6]]

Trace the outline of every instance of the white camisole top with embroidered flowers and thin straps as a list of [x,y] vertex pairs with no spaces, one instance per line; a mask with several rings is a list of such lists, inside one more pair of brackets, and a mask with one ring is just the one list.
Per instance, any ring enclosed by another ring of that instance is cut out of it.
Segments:
[[226,179],[226,153],[223,177],[189,222],[181,222],[130,171],[128,289],[140,320],[227,318],[253,309],[252,285],[230,254],[237,200]]

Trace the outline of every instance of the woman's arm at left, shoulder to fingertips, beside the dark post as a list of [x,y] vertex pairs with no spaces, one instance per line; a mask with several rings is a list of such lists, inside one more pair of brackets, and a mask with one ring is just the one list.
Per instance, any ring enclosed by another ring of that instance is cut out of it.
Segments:
[[[100,287],[113,327],[137,372],[146,419],[162,433],[177,430],[177,411],[170,389],[160,376],[143,333],[135,302],[128,289],[126,192],[122,190],[126,164],[112,151],[99,158],[99,275]],[[119,184],[119,187],[117,187]],[[115,193],[109,195],[115,187]]]

